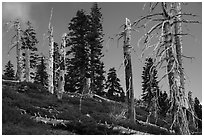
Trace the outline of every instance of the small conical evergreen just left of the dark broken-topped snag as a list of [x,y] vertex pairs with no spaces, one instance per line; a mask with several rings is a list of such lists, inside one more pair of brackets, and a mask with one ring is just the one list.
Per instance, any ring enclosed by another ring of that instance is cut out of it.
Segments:
[[115,68],[110,68],[106,81],[106,96],[115,101],[125,101],[124,91],[120,85],[120,79],[117,77]]

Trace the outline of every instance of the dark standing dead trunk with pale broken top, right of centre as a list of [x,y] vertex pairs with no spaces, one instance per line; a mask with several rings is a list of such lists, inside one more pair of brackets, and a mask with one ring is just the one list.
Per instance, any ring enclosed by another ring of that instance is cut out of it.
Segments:
[[126,18],[124,28],[124,64],[125,64],[125,81],[126,81],[126,93],[127,93],[127,104],[128,104],[128,118],[135,122],[135,108],[134,108],[134,91],[133,91],[133,78],[132,78],[132,64],[131,64],[131,46],[130,36],[131,24],[130,20]]

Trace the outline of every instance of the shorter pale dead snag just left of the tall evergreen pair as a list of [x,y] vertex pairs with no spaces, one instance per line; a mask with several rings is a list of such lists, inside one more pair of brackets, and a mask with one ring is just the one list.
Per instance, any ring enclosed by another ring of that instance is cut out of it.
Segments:
[[63,34],[62,36],[62,44],[60,46],[59,49],[59,53],[60,53],[60,64],[59,64],[59,79],[58,79],[58,90],[57,90],[57,97],[58,99],[62,99],[62,95],[64,92],[64,84],[65,84],[65,56],[66,56],[66,51],[65,51],[65,47],[66,47],[66,37],[67,34]]

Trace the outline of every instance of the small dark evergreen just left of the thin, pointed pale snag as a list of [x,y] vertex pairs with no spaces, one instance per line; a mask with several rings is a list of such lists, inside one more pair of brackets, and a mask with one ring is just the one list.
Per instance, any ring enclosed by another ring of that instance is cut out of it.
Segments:
[[44,56],[39,57],[37,71],[34,78],[34,83],[41,84],[44,87],[48,86],[48,74],[46,71],[46,63]]

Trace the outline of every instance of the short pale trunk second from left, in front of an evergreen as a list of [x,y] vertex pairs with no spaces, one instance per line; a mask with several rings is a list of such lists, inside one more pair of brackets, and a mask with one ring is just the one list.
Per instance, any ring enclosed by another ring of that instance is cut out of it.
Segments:
[[30,81],[30,54],[29,54],[29,48],[27,47],[25,49],[25,64],[26,64],[26,82]]

